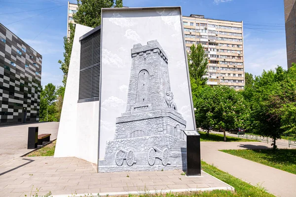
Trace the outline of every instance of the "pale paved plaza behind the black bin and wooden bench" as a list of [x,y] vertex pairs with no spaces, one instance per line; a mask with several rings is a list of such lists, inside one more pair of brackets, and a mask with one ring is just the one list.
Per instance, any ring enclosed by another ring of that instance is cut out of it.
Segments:
[[57,138],[59,123],[34,123],[0,127],[0,165],[32,151],[27,149],[29,127],[39,127],[38,134],[51,133],[50,140],[53,140]]

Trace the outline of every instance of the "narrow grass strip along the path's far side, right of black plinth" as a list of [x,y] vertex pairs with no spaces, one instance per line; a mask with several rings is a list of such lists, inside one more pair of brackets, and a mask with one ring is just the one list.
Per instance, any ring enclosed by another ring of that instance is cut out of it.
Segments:
[[[209,133],[207,135],[206,132],[200,132],[200,141],[224,141],[223,134],[216,134],[216,133]],[[245,138],[238,138],[238,137],[233,137],[226,135],[226,141],[227,142],[232,142],[232,141],[257,141],[253,139],[245,139]]]

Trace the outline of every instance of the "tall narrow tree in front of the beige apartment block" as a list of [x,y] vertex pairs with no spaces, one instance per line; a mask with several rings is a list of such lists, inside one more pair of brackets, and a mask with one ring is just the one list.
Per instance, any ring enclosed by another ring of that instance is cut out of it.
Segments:
[[204,47],[198,44],[196,47],[194,44],[190,47],[191,53],[188,54],[188,67],[190,77],[195,79],[195,83],[198,85],[205,85],[207,78],[203,78],[207,72],[208,57],[205,54]]

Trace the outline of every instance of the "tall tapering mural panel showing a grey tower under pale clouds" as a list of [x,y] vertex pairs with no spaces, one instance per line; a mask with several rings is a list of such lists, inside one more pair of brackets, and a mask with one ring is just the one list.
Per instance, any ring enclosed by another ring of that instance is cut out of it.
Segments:
[[180,8],[104,9],[99,171],[184,169],[195,130]]

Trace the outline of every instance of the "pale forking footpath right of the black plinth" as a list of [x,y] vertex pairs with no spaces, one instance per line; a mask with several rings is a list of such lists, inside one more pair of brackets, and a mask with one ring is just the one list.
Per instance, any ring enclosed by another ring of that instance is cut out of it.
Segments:
[[267,148],[270,148],[270,145],[262,142],[201,142],[201,158],[252,185],[261,185],[276,196],[295,197],[296,174],[219,151]]

